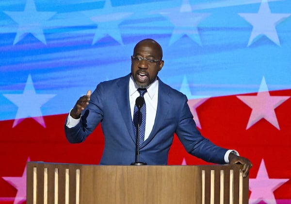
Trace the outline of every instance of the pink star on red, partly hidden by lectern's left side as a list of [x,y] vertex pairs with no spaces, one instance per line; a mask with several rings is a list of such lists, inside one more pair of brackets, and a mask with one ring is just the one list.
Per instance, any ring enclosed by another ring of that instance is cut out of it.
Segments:
[[[28,157],[27,161],[30,161]],[[20,177],[2,177],[5,181],[7,181],[11,186],[17,189],[17,193],[14,199],[13,204],[22,204],[26,201],[26,165],[22,176]]]

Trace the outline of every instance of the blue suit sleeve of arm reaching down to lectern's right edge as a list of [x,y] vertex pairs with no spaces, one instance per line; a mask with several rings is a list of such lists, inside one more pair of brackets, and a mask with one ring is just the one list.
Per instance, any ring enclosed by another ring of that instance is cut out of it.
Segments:
[[176,134],[179,140],[188,153],[207,162],[225,164],[224,156],[227,149],[216,146],[208,138],[201,135],[196,128],[187,101],[187,97],[183,95],[181,105],[178,107],[180,115]]

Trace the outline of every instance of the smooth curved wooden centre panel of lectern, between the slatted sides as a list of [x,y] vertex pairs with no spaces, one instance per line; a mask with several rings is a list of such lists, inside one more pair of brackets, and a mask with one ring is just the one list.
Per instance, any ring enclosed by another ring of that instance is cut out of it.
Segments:
[[193,203],[199,191],[195,183],[201,183],[198,171],[184,166],[104,166],[98,171],[83,168],[81,177],[88,175],[90,180],[81,181],[81,186],[88,187],[81,193],[82,203]]

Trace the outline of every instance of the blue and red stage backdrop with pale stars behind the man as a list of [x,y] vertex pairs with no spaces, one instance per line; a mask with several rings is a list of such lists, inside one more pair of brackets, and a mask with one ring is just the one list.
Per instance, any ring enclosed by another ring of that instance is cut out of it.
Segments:
[[[99,163],[101,127],[69,144],[66,115],[144,38],[202,134],[252,161],[250,203],[290,204],[291,0],[1,0],[0,203],[25,203],[27,161]],[[169,164],[205,162],[175,136]]]

